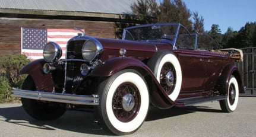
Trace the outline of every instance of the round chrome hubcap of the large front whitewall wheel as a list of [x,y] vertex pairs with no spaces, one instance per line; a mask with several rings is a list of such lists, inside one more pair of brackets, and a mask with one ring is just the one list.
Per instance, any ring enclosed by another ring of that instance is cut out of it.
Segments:
[[135,100],[132,94],[126,94],[122,97],[122,107],[125,111],[131,111],[134,108]]

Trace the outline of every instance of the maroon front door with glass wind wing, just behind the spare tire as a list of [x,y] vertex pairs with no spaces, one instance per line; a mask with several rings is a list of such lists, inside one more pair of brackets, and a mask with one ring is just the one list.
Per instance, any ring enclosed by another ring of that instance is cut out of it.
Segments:
[[191,35],[186,30],[180,30],[173,50],[176,53],[182,69],[181,92],[199,92],[204,90],[204,80],[207,75],[205,60],[207,56],[195,50],[197,35]]

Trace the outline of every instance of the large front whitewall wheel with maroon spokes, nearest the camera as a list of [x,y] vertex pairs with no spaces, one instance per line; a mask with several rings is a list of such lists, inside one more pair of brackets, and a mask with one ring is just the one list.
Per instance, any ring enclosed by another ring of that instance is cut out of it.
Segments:
[[146,119],[149,95],[146,81],[132,69],[125,69],[101,82],[97,93],[96,119],[103,129],[116,135],[135,132]]

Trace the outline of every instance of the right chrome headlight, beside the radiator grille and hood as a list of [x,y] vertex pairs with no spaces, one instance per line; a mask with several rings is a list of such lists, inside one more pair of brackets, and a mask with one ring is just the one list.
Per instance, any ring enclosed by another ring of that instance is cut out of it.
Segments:
[[99,58],[102,52],[102,44],[95,39],[89,39],[83,44],[82,55],[86,61],[93,61],[94,59]]

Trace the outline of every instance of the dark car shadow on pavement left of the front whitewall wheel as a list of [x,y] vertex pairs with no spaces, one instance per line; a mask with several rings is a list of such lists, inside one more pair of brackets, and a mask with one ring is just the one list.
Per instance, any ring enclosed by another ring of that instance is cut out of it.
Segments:
[[90,111],[67,112],[56,120],[36,120],[29,116],[22,106],[0,108],[0,121],[42,130],[69,130],[93,135],[111,135],[103,130]]

